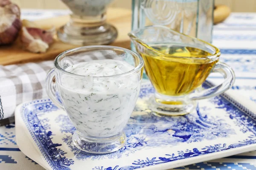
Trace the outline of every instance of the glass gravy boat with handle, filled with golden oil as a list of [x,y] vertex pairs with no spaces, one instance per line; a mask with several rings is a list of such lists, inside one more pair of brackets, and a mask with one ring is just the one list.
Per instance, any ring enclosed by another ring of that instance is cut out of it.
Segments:
[[[232,68],[219,62],[220,50],[208,42],[165,26],[147,26],[128,35],[143,57],[145,72],[154,86],[149,102],[156,113],[190,113],[198,99],[222,94],[235,81]],[[224,82],[201,88],[211,72],[222,74]]]

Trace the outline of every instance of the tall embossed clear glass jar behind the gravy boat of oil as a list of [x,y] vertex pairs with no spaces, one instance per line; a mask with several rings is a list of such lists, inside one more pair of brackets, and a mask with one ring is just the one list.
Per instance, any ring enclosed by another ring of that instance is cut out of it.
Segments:
[[132,30],[163,25],[211,42],[214,0],[132,0]]

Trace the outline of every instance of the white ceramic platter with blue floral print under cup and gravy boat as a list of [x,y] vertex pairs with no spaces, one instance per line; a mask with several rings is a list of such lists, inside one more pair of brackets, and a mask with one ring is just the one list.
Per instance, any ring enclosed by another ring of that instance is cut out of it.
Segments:
[[143,83],[125,127],[127,143],[115,153],[97,155],[76,149],[71,142],[75,128],[67,113],[49,99],[17,107],[17,144],[31,159],[53,170],[167,170],[256,150],[253,102],[223,94],[201,100],[185,116],[156,116],[146,102],[152,93],[151,84]]

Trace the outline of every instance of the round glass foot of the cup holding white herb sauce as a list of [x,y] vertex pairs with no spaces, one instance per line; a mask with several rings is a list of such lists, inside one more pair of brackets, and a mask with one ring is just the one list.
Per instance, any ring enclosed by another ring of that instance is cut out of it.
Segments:
[[88,153],[111,153],[121,149],[126,142],[124,132],[118,136],[109,138],[92,138],[79,133],[77,130],[73,134],[73,144],[80,150]]

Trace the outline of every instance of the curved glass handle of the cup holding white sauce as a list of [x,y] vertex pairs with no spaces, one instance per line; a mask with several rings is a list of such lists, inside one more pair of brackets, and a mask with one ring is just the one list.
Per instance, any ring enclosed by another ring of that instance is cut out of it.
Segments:
[[48,94],[49,98],[52,100],[52,102],[60,109],[63,109],[61,99],[58,96],[58,91],[56,87],[56,79],[54,75],[54,68],[52,68],[46,76],[46,93]]

